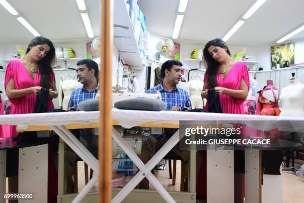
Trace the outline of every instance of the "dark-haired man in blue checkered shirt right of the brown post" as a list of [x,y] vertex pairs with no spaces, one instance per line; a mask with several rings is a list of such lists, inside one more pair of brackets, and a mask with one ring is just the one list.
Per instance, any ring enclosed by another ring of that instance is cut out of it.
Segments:
[[[157,86],[149,89],[147,93],[160,93],[161,100],[167,103],[167,110],[181,111],[192,109],[191,102],[187,91],[178,88],[176,85],[180,82],[182,76],[182,63],[177,60],[168,60],[161,66],[162,82]],[[142,153],[139,156],[144,164],[152,158],[158,149],[176,132],[174,128],[165,128],[162,135],[151,135],[150,145],[147,142],[143,143]],[[152,143],[152,144],[151,144]],[[178,146],[175,146],[172,151],[180,157],[184,164],[186,180],[185,191],[188,190],[188,160],[189,152],[180,151]],[[149,190],[149,181],[144,179],[139,184],[139,189]]]

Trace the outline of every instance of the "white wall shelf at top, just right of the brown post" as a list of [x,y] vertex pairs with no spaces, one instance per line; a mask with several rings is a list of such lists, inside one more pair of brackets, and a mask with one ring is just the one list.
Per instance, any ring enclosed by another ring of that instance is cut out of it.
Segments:
[[143,64],[145,63],[140,56],[138,41],[125,0],[115,0],[114,2],[114,24],[128,27],[125,29],[114,26],[114,44],[121,51],[124,63],[129,64],[133,70],[144,70]]

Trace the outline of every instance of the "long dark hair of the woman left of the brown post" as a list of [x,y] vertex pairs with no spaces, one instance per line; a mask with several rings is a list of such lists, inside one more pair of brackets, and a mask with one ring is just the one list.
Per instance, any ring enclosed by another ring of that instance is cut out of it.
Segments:
[[30,47],[40,44],[47,44],[50,47],[50,50],[46,54],[46,56],[38,61],[38,67],[41,74],[40,86],[49,89],[51,85],[50,74],[53,72],[53,65],[55,64],[55,60],[56,60],[55,48],[53,43],[51,42],[51,40],[45,37],[42,36],[35,37],[29,43],[26,49],[26,54],[30,51]]

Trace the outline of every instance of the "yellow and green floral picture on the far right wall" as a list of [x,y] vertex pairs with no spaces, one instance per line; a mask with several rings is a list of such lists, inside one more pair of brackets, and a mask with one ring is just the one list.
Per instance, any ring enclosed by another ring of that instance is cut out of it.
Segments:
[[272,46],[271,67],[285,68],[295,63],[295,42]]

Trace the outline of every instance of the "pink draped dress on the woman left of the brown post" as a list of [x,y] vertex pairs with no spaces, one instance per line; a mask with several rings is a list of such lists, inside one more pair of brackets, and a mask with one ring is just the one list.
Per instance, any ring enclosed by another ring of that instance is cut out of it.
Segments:
[[[52,72],[51,82],[55,82],[55,75]],[[7,64],[5,71],[4,86],[6,90],[6,85],[10,79],[13,79],[15,83],[16,90],[31,88],[35,86],[40,86],[41,74],[38,69],[36,78],[33,79],[27,69],[19,60],[10,61]],[[51,88],[51,87],[50,87]],[[33,113],[35,109],[37,96],[35,94],[30,94],[22,98],[10,99],[12,103],[10,114],[24,114]],[[49,99],[49,110],[54,109],[54,104],[52,99]],[[10,127],[10,136],[17,135],[16,126]]]

